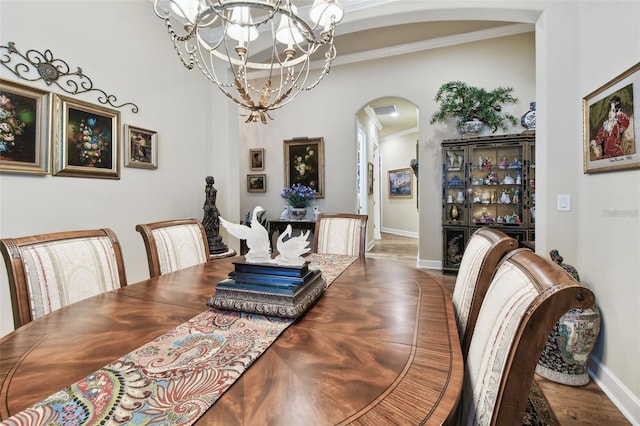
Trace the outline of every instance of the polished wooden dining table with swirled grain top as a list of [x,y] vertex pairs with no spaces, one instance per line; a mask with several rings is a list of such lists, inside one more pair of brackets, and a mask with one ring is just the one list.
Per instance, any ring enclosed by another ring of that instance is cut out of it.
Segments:
[[[103,293],[0,339],[0,417],[24,410],[207,310],[238,257]],[[463,362],[450,291],[361,257],[198,420],[208,425],[451,422]]]

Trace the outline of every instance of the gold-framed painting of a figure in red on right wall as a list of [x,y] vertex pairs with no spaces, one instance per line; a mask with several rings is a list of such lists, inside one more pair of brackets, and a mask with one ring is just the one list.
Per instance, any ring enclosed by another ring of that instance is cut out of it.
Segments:
[[640,167],[640,63],[583,98],[584,173]]

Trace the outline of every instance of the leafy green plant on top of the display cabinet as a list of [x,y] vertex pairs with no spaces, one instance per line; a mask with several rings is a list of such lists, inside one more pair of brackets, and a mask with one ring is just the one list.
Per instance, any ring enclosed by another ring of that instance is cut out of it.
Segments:
[[484,123],[491,133],[498,129],[508,130],[509,124],[515,126],[518,120],[515,116],[503,112],[504,105],[515,104],[518,98],[512,95],[512,87],[498,87],[487,91],[483,88],[470,86],[462,81],[444,83],[436,93],[435,101],[440,109],[433,114],[431,124],[456,119],[456,128],[464,134],[467,122],[475,122],[475,132],[480,129],[477,123]]

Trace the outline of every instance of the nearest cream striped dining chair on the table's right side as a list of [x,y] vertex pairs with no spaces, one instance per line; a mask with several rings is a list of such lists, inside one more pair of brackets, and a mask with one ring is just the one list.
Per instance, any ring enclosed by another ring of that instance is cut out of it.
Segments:
[[593,293],[529,249],[507,253],[484,298],[465,360],[459,425],[519,425],[549,332]]

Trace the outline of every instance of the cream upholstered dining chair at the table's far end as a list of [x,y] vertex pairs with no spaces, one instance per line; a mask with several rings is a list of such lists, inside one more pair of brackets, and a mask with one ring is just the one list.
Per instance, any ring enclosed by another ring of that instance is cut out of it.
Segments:
[[320,213],[313,252],[364,256],[368,218],[366,214]]

